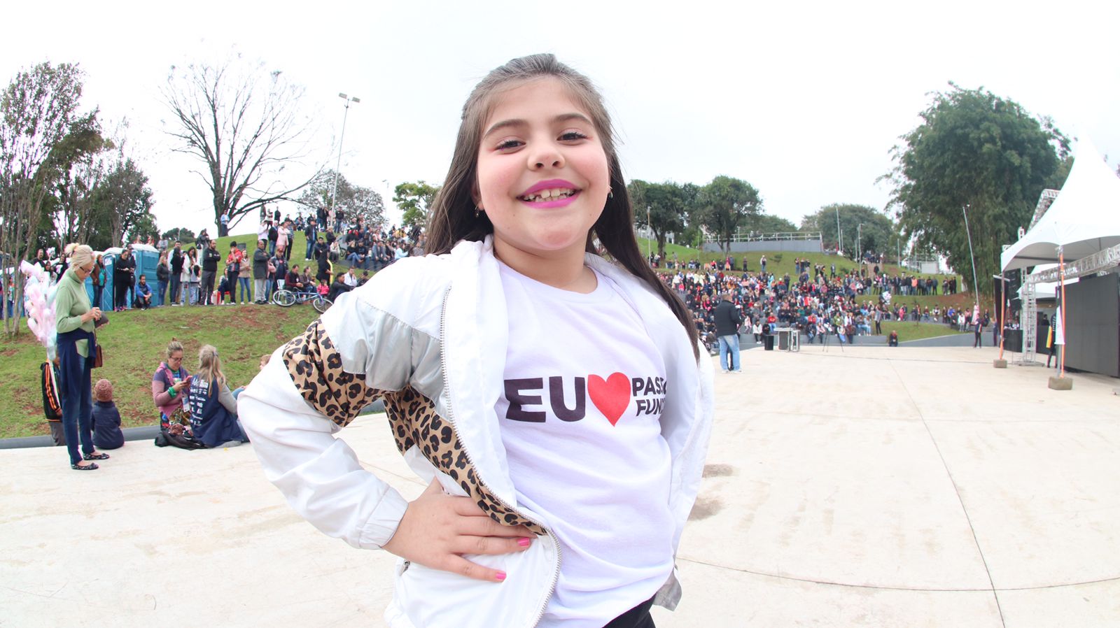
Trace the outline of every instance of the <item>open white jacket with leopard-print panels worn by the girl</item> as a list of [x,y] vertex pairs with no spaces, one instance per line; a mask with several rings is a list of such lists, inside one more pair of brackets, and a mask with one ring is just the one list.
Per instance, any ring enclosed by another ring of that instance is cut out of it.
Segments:
[[[672,456],[675,551],[708,448],[711,362],[694,358],[684,329],[644,282],[599,256],[589,254],[587,263],[620,287],[665,360],[672,387],[661,422]],[[523,552],[465,556],[505,571],[502,584],[399,560],[385,611],[393,627],[528,628],[540,620],[556,587],[557,538],[516,502],[494,411],[507,313],[489,237],[461,242],[447,255],[409,257],[343,294],[307,332],[277,349],[240,396],[239,414],[269,480],[328,535],[380,547],[408,506],[333,437],[377,396],[418,476],[438,478],[448,494],[478,499],[495,521],[540,535]],[[679,599],[674,573],[655,602],[672,609]]]

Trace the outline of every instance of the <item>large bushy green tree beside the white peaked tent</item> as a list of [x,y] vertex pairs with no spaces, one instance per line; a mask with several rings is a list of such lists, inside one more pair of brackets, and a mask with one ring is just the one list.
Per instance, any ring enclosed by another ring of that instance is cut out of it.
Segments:
[[922,123],[895,147],[890,205],[906,240],[945,255],[953,269],[971,268],[964,215],[978,276],[1000,270],[1002,244],[1027,226],[1039,194],[1061,187],[1068,139],[1047,118],[983,90],[933,95]]

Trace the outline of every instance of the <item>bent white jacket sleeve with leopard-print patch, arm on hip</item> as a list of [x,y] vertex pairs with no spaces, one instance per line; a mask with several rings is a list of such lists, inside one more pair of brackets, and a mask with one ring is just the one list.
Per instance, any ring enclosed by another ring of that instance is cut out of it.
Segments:
[[388,326],[396,319],[360,301],[348,296],[277,349],[239,396],[237,413],[265,477],[297,513],[329,536],[376,549],[396,532],[408,502],[334,433],[407,385],[411,339]]

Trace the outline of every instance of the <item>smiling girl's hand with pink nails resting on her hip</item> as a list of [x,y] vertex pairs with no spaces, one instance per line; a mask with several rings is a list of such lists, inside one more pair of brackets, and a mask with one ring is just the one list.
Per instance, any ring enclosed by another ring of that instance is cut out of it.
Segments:
[[533,536],[524,526],[495,522],[469,497],[447,495],[439,480],[432,480],[409,504],[396,533],[383,549],[430,569],[502,582],[505,572],[473,563],[463,554],[522,552],[529,549]]

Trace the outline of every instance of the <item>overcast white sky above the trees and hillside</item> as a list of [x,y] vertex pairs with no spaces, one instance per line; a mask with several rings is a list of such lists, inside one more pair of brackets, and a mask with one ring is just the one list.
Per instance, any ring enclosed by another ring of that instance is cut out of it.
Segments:
[[337,94],[361,97],[342,172],[389,205],[383,181],[442,181],[474,84],[539,51],[600,86],[627,178],[738,177],[795,224],[829,203],[884,207],[888,189],[875,181],[890,148],[949,81],[1052,116],[1113,169],[1120,158],[1117,2],[363,4],[63,1],[47,12],[21,2],[4,9],[0,79],[41,60],[80,63],[86,107],[130,120],[165,231],[214,229],[196,165],[170,150],[159,88],[171,65],[231,50],[306,87],[318,159],[332,167]]

